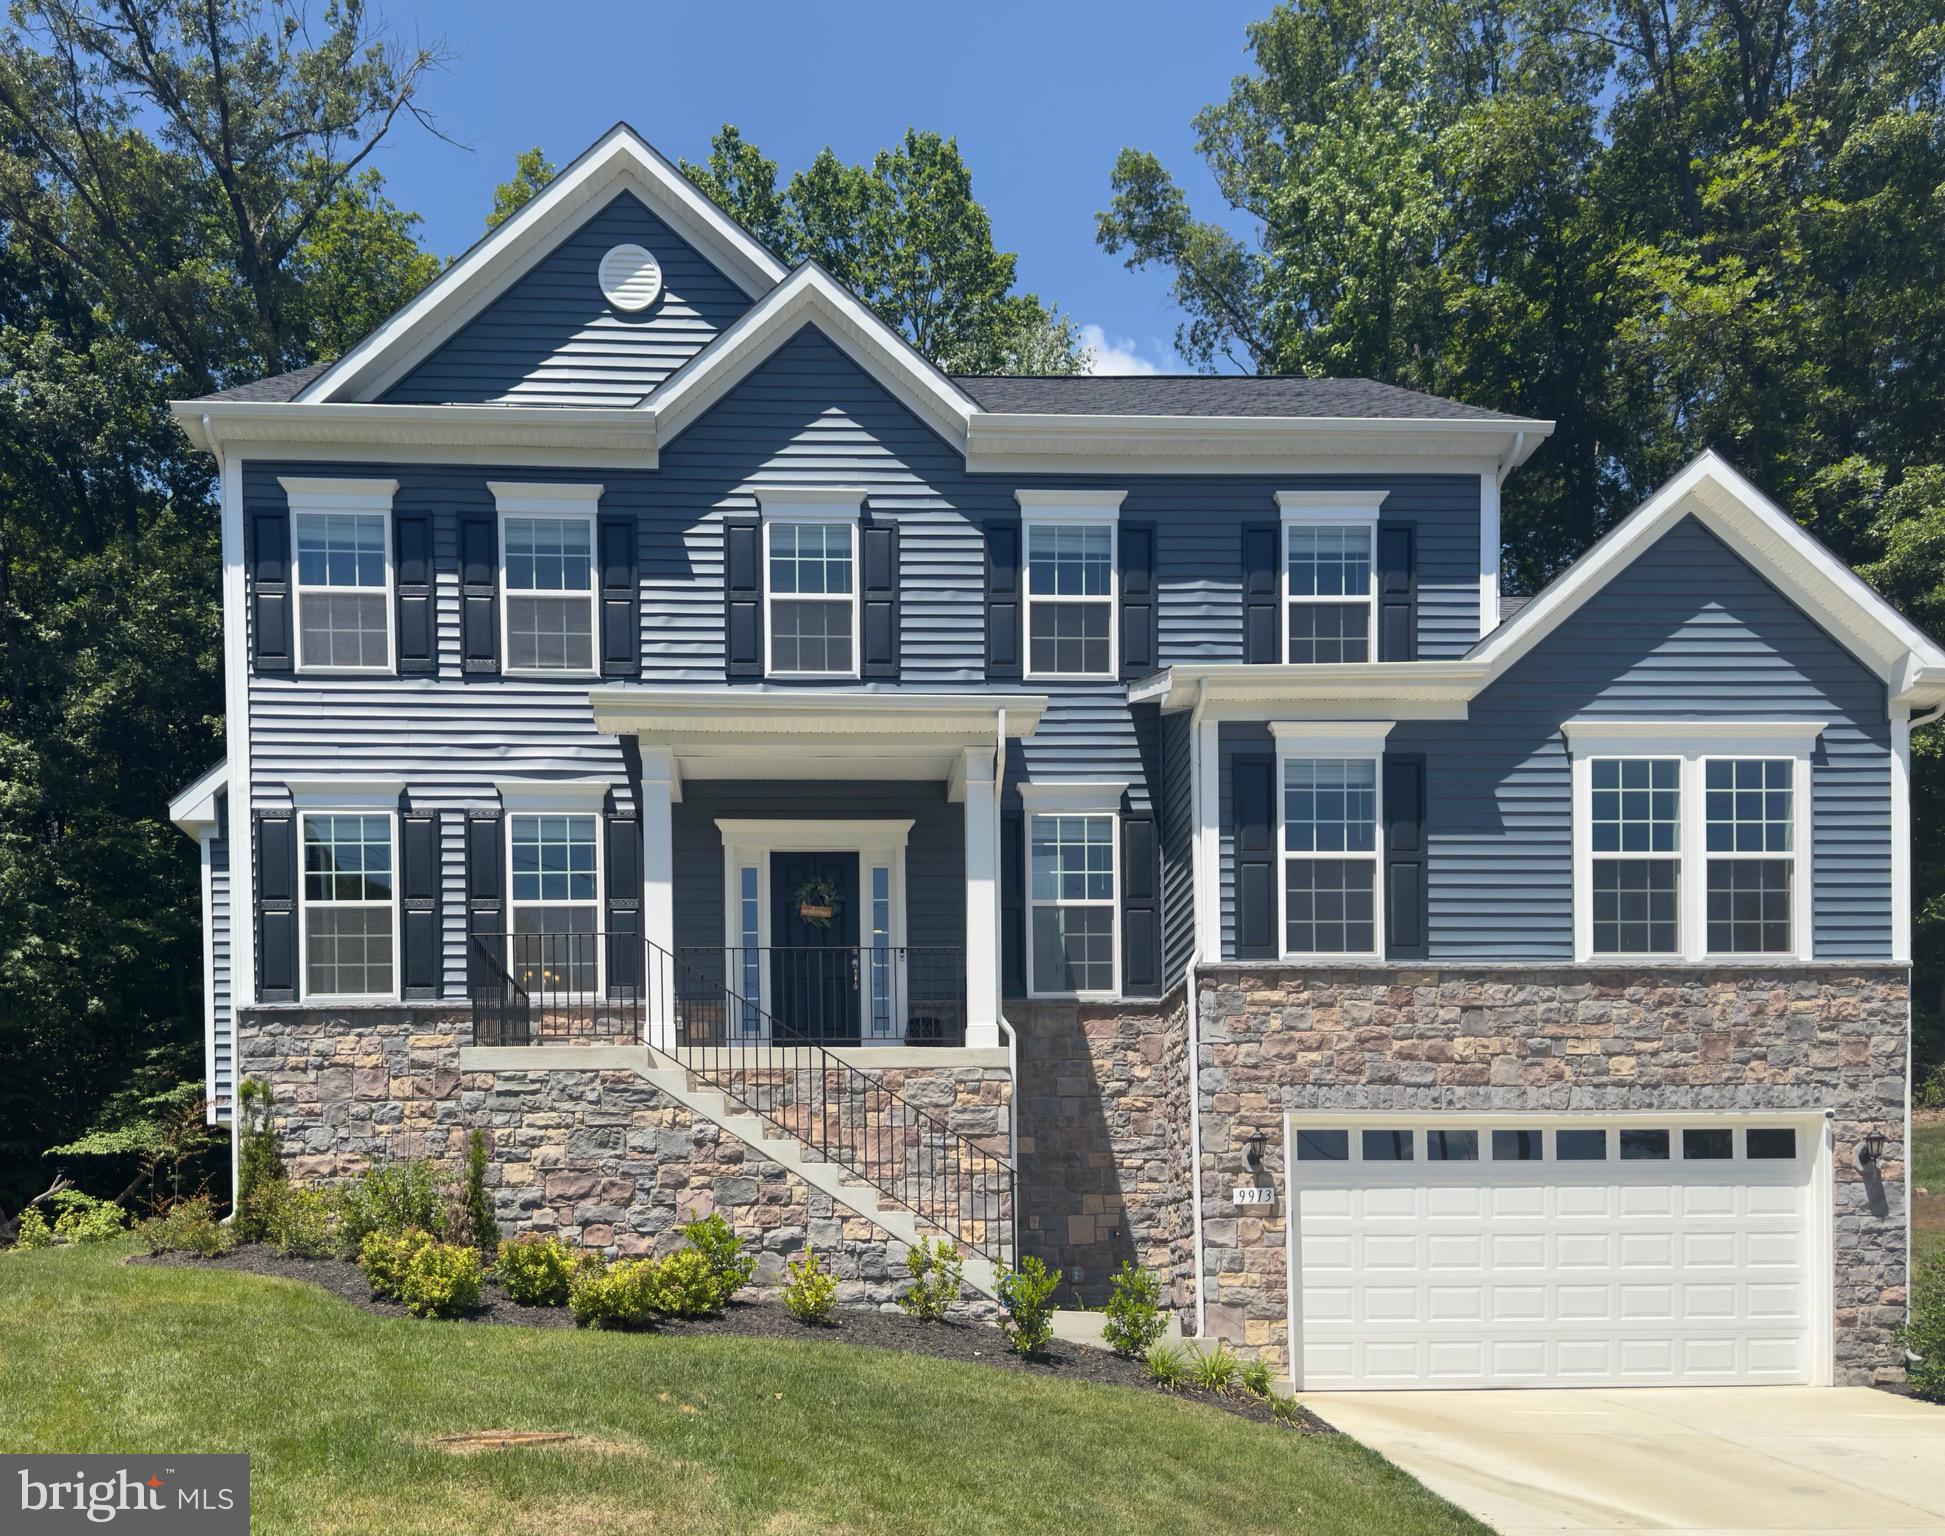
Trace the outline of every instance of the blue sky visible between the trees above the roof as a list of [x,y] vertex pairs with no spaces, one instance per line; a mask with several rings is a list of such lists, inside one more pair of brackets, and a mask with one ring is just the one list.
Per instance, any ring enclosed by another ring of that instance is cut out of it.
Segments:
[[1243,72],[1243,27],[1270,0],[786,6],[609,0],[391,0],[405,37],[455,51],[424,93],[453,148],[414,126],[377,163],[424,214],[424,241],[471,245],[513,156],[554,161],[626,119],[671,157],[700,159],[735,122],[782,173],[825,144],[869,157],[906,126],[957,134],[972,189],[1027,288],[1101,329],[1113,371],[1179,369],[1161,272],[1093,241],[1122,146],[1153,150],[1202,216],[1218,214],[1190,119]]

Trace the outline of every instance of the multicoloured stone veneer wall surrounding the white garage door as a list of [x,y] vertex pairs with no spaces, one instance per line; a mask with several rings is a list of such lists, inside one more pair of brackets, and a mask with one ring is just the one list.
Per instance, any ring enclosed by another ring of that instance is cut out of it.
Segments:
[[[1694,972],[1432,968],[1200,972],[1208,1328],[1288,1367],[1284,1112],[1836,1112],[1836,1380],[1900,1380],[1904,1316],[1902,968]],[[1887,1137],[1883,1176],[1850,1163]],[[1253,1132],[1278,1204],[1233,1211]]]

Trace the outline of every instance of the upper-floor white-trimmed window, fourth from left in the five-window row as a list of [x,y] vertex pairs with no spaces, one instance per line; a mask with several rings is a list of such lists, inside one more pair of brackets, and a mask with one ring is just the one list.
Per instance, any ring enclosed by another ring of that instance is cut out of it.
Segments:
[[1116,677],[1120,492],[1019,492],[1027,677]]

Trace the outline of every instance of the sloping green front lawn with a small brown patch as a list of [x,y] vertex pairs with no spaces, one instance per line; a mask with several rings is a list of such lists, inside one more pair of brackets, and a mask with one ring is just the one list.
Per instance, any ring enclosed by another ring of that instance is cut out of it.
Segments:
[[[0,1445],[249,1450],[259,1532],[1484,1532],[1340,1437],[829,1342],[377,1318],[307,1285],[0,1256]],[[580,1450],[428,1441],[560,1429]]]

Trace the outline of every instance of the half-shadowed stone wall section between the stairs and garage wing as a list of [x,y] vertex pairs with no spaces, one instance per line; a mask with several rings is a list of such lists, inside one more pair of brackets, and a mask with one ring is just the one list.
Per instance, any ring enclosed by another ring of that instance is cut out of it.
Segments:
[[1186,988],[1157,1003],[1008,1001],[1019,1036],[1021,1250],[1066,1272],[1062,1303],[1122,1260],[1194,1307]]

